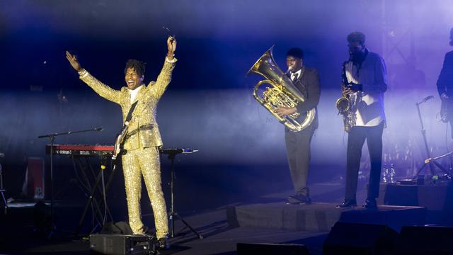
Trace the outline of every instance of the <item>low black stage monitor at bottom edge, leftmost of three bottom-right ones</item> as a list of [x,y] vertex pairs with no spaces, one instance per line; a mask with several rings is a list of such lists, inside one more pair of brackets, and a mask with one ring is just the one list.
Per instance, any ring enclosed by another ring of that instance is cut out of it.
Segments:
[[309,255],[309,250],[302,244],[237,244],[238,255]]

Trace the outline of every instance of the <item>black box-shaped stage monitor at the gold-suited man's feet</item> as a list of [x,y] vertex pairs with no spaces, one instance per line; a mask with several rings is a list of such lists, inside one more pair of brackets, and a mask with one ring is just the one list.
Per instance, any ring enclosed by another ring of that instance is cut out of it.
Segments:
[[156,254],[156,239],[132,234],[90,234],[90,251],[108,255]]

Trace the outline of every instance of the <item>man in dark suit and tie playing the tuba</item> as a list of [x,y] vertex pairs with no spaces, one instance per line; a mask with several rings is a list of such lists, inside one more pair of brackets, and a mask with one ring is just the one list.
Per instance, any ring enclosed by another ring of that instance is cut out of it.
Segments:
[[[292,84],[302,93],[306,100],[296,107],[279,107],[276,113],[280,116],[292,113],[301,113],[298,120],[306,118],[306,112],[310,111],[319,103],[319,74],[316,69],[307,68],[304,65],[304,52],[299,48],[288,50],[286,64],[288,67],[287,76]],[[314,131],[318,128],[317,113],[314,120],[307,128],[294,132],[285,128],[285,143],[289,172],[294,186],[294,196],[287,198],[287,204],[310,204],[311,198],[307,179],[309,175],[310,142]]]

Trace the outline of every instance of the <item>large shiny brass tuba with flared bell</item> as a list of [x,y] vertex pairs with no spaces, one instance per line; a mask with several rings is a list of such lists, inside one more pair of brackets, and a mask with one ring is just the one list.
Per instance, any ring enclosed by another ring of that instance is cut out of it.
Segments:
[[[273,46],[274,47],[274,46]],[[285,125],[289,130],[299,132],[308,127],[314,120],[316,110],[313,108],[306,113],[306,118],[302,121],[297,120],[300,113],[292,113],[280,117],[275,113],[275,110],[279,107],[296,107],[297,104],[305,101],[304,95],[292,84],[291,79],[282,72],[282,70],[275,64],[274,57],[272,55],[273,47],[258,59],[253,64],[247,74],[256,73],[265,77],[265,80],[259,81],[253,89],[253,97],[264,106],[277,120]],[[260,96],[258,95],[258,89],[263,84],[270,86],[265,87],[265,91]]]

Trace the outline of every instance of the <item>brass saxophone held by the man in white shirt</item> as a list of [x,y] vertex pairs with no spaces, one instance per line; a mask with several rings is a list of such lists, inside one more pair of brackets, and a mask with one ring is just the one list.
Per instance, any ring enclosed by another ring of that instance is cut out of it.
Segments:
[[[343,62],[341,69],[341,86],[348,87],[350,84],[353,84],[348,75],[346,74],[346,65],[352,62],[351,60]],[[350,132],[352,127],[355,126],[357,117],[355,115],[357,111],[357,105],[362,100],[362,92],[357,91],[352,94],[345,94],[342,91],[341,97],[336,101],[336,108],[338,109],[338,114],[343,115],[343,125],[346,132]]]

